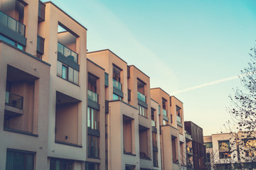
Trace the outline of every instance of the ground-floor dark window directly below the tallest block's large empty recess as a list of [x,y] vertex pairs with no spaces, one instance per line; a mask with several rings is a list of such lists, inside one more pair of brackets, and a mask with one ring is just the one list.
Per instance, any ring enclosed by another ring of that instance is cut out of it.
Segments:
[[73,164],[69,159],[50,158],[50,170],[73,170]]

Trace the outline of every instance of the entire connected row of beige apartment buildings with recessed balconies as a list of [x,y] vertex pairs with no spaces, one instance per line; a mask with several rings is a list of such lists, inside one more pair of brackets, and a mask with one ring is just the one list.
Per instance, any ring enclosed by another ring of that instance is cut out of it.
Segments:
[[0,169],[185,169],[181,101],[50,1],[0,18]]

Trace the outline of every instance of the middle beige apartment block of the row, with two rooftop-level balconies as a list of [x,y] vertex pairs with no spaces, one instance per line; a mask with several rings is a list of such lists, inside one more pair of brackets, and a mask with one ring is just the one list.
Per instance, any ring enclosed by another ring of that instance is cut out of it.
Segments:
[[110,50],[88,52],[87,57],[105,69],[107,168],[159,169],[159,113],[151,101],[149,77]]

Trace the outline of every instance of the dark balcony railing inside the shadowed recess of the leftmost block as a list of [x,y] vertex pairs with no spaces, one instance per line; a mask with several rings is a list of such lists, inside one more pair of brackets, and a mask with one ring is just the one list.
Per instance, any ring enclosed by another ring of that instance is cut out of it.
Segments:
[[23,109],[23,96],[11,94],[9,91],[6,91],[5,104],[14,108]]

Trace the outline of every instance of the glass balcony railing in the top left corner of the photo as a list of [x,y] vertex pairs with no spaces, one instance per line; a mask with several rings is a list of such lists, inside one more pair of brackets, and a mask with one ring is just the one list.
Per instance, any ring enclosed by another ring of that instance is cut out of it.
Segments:
[[22,23],[16,21],[14,18],[11,18],[11,16],[8,16],[1,11],[0,11],[0,23],[4,24],[4,26],[10,28],[11,30],[14,30],[16,33],[19,33],[22,36],[25,36],[26,26],[24,26]]

